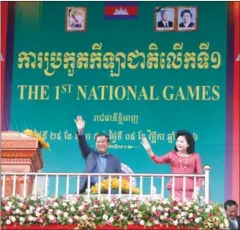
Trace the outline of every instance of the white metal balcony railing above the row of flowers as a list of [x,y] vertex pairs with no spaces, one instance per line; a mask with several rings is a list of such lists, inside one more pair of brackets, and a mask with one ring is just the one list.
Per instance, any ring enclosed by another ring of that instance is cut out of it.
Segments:
[[[166,179],[172,178],[172,198],[175,198],[175,180],[176,178],[183,179],[183,194],[182,200],[186,200],[186,180],[192,178],[194,183],[194,194],[197,192],[197,180],[202,178],[203,197],[205,203],[210,200],[210,183],[209,183],[210,167],[205,167],[204,174],[109,174],[109,173],[19,173],[19,172],[3,172],[1,174],[2,192],[1,196],[20,195],[27,197],[33,195],[49,197],[49,196],[66,196],[78,195],[80,190],[80,182],[87,177],[87,189],[84,195],[93,195],[91,187],[91,178],[97,178],[95,185],[96,196],[105,195],[111,197],[112,194],[118,196],[149,196],[161,195],[166,197],[165,187]],[[112,186],[113,181],[117,178],[117,185]],[[108,180],[106,180],[108,179]],[[105,191],[103,192],[101,182],[105,180]],[[64,182],[63,182],[64,181]],[[127,181],[127,182],[126,182]],[[107,184],[107,187],[106,187]],[[64,188],[64,189],[63,189]],[[137,189],[136,189],[137,188]],[[61,190],[61,191],[60,191]]]

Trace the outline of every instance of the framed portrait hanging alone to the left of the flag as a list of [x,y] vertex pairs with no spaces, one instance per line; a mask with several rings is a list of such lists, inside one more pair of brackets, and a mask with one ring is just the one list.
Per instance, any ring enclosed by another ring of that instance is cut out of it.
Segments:
[[87,27],[86,7],[66,7],[66,31],[84,32]]

